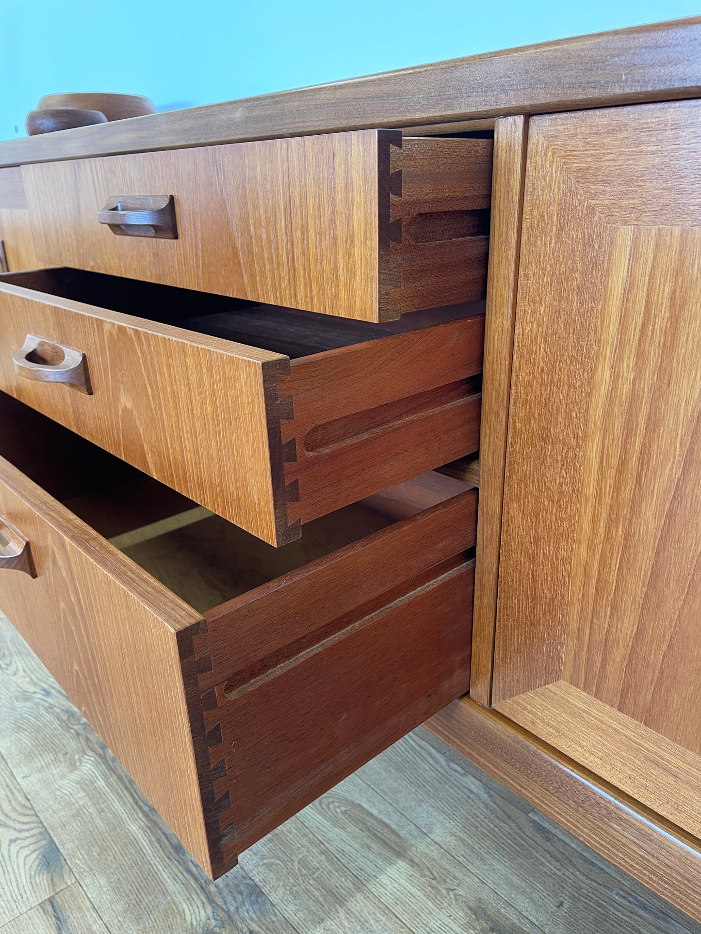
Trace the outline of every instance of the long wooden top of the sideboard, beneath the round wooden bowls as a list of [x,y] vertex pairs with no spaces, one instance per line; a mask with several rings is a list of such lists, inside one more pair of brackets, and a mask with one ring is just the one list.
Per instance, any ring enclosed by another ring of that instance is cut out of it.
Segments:
[[14,139],[0,165],[694,97],[700,32],[690,17]]

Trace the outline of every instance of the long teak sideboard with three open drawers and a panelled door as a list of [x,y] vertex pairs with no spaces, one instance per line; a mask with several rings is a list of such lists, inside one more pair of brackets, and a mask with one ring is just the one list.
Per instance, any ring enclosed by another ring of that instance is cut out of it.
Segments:
[[701,920],[701,18],[0,143],[0,606],[216,877],[425,722]]

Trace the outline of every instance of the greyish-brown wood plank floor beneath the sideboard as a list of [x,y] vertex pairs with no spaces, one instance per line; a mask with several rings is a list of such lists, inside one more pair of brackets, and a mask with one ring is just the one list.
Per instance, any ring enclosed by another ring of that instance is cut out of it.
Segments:
[[700,932],[419,729],[210,882],[0,617],[1,934]]

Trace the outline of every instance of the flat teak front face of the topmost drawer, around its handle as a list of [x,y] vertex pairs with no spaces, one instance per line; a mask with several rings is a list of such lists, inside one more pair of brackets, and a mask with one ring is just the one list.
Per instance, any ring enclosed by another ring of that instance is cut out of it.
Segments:
[[[36,248],[53,264],[378,320],[378,146],[367,130],[22,172]],[[98,224],[124,194],[172,194],[179,239]]]

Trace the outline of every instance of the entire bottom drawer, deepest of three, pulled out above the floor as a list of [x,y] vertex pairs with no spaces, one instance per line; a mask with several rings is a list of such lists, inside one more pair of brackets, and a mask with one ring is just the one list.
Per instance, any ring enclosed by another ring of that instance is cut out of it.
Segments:
[[0,455],[0,606],[214,876],[469,686],[457,480],[276,549],[4,393]]

